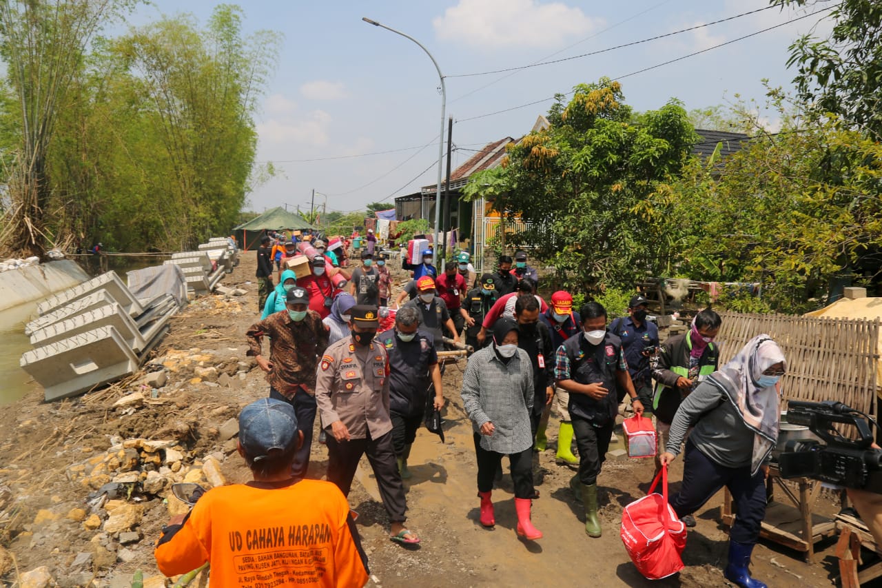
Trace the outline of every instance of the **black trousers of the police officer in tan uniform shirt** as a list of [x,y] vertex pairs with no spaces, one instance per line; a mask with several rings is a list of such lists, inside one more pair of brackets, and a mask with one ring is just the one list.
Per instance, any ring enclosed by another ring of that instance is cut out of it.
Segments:
[[349,495],[355,468],[363,455],[368,456],[370,468],[377,478],[380,497],[389,520],[392,523],[404,523],[407,516],[407,501],[404,497],[404,485],[395,463],[395,452],[392,449],[392,432],[385,433],[377,439],[371,439],[370,431],[366,439],[337,441],[333,434],[328,433],[328,481],[336,484],[340,492]]

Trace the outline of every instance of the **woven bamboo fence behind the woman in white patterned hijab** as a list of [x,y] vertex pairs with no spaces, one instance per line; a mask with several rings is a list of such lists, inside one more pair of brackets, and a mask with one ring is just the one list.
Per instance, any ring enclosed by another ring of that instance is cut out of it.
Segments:
[[754,336],[770,335],[787,358],[784,399],[836,400],[876,416],[879,320],[721,313],[720,365]]

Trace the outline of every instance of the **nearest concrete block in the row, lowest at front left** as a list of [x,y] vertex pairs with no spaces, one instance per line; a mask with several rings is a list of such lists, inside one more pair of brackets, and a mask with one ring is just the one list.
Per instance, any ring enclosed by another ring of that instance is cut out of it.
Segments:
[[19,365],[41,383],[50,401],[134,373],[138,357],[116,328],[101,327],[26,351]]

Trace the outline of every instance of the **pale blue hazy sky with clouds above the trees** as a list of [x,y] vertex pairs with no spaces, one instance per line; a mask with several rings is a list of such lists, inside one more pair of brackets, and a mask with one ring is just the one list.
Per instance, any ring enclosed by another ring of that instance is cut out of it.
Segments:
[[[129,24],[185,11],[204,25],[217,4],[153,0]],[[273,162],[277,170],[248,196],[244,209],[258,212],[284,205],[309,210],[313,190],[315,206],[329,211],[363,210],[376,200],[394,207],[396,196],[435,184],[442,124],[437,70],[415,42],[363,17],[415,38],[437,60],[445,75],[446,116],[454,121],[453,169],[491,141],[529,132],[554,94],[603,76],[620,80],[625,102],[636,110],[659,109],[672,98],[686,109],[739,97],[761,107],[763,79],[792,89],[789,44],[812,31],[826,36],[832,26],[826,12],[805,16],[817,7],[770,8],[709,25],[766,8],[767,0],[251,0],[240,5],[246,34],[269,29],[284,37],[255,113],[256,162]],[[805,18],[736,41],[799,17]],[[557,64],[463,75],[581,56],[693,26],[699,28]],[[664,64],[703,49],[708,50]],[[639,72],[645,68],[652,69]],[[530,102],[537,103],[516,108]],[[774,112],[759,114],[774,129]],[[446,120],[444,127],[446,133]]]

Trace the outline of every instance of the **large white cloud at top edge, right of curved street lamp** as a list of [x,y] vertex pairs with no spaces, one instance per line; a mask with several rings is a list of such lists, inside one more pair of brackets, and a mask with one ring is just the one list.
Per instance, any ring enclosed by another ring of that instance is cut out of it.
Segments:
[[601,24],[579,8],[538,0],[460,0],[432,19],[439,39],[485,49],[559,47]]

